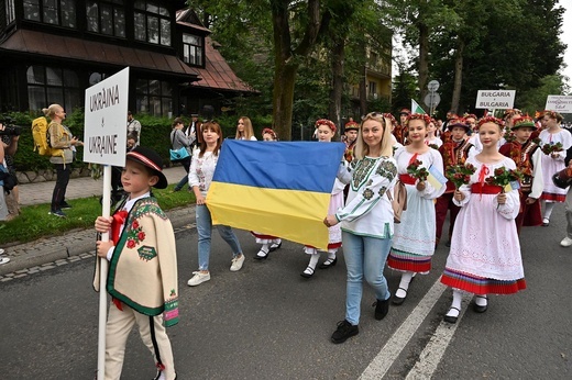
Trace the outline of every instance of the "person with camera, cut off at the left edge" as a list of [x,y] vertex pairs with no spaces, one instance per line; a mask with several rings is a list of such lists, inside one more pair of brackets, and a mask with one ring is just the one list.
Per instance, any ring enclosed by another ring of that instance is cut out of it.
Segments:
[[10,221],[18,216],[20,213],[19,197],[18,197],[18,181],[15,180],[15,167],[13,156],[18,150],[18,141],[20,139],[21,127],[15,125],[4,125],[0,123],[0,138],[2,148],[4,150],[4,168],[8,169],[8,174],[11,176],[14,185],[11,189],[6,188],[4,183],[4,198],[6,204],[8,206],[8,217],[7,221]]

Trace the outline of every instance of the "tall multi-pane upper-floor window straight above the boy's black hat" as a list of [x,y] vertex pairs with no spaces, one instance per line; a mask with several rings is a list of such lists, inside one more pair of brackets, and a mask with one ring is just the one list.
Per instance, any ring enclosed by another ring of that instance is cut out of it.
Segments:
[[135,40],[170,46],[170,14],[158,1],[138,0],[134,4]]

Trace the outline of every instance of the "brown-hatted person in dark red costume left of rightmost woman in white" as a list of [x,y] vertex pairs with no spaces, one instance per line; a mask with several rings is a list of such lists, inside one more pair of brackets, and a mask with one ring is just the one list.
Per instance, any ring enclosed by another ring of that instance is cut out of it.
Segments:
[[520,180],[520,212],[516,217],[516,230],[520,234],[524,226],[538,226],[542,224],[540,211],[540,195],[543,189],[542,178],[542,152],[537,142],[530,139],[536,131],[532,118],[519,116],[513,121],[515,139],[506,143],[498,150],[502,155],[512,158],[518,171],[522,174]]

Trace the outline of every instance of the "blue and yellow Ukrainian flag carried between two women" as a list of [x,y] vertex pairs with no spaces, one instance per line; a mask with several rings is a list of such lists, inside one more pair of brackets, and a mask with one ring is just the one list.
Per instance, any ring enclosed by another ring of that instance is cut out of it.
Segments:
[[327,248],[322,221],[344,148],[342,143],[224,141],[207,194],[212,223]]

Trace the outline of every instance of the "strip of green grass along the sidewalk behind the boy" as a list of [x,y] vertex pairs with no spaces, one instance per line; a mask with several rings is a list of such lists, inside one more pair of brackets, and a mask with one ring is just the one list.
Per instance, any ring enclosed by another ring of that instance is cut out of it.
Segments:
[[[163,211],[195,204],[195,194],[188,191],[173,192],[174,185],[164,190],[153,190]],[[28,243],[42,237],[65,235],[74,230],[94,228],[94,221],[101,215],[99,197],[67,200],[72,209],[67,217],[50,215],[50,203],[22,208],[21,214],[10,222],[0,222],[2,244]],[[95,233],[95,230],[94,230]]]

